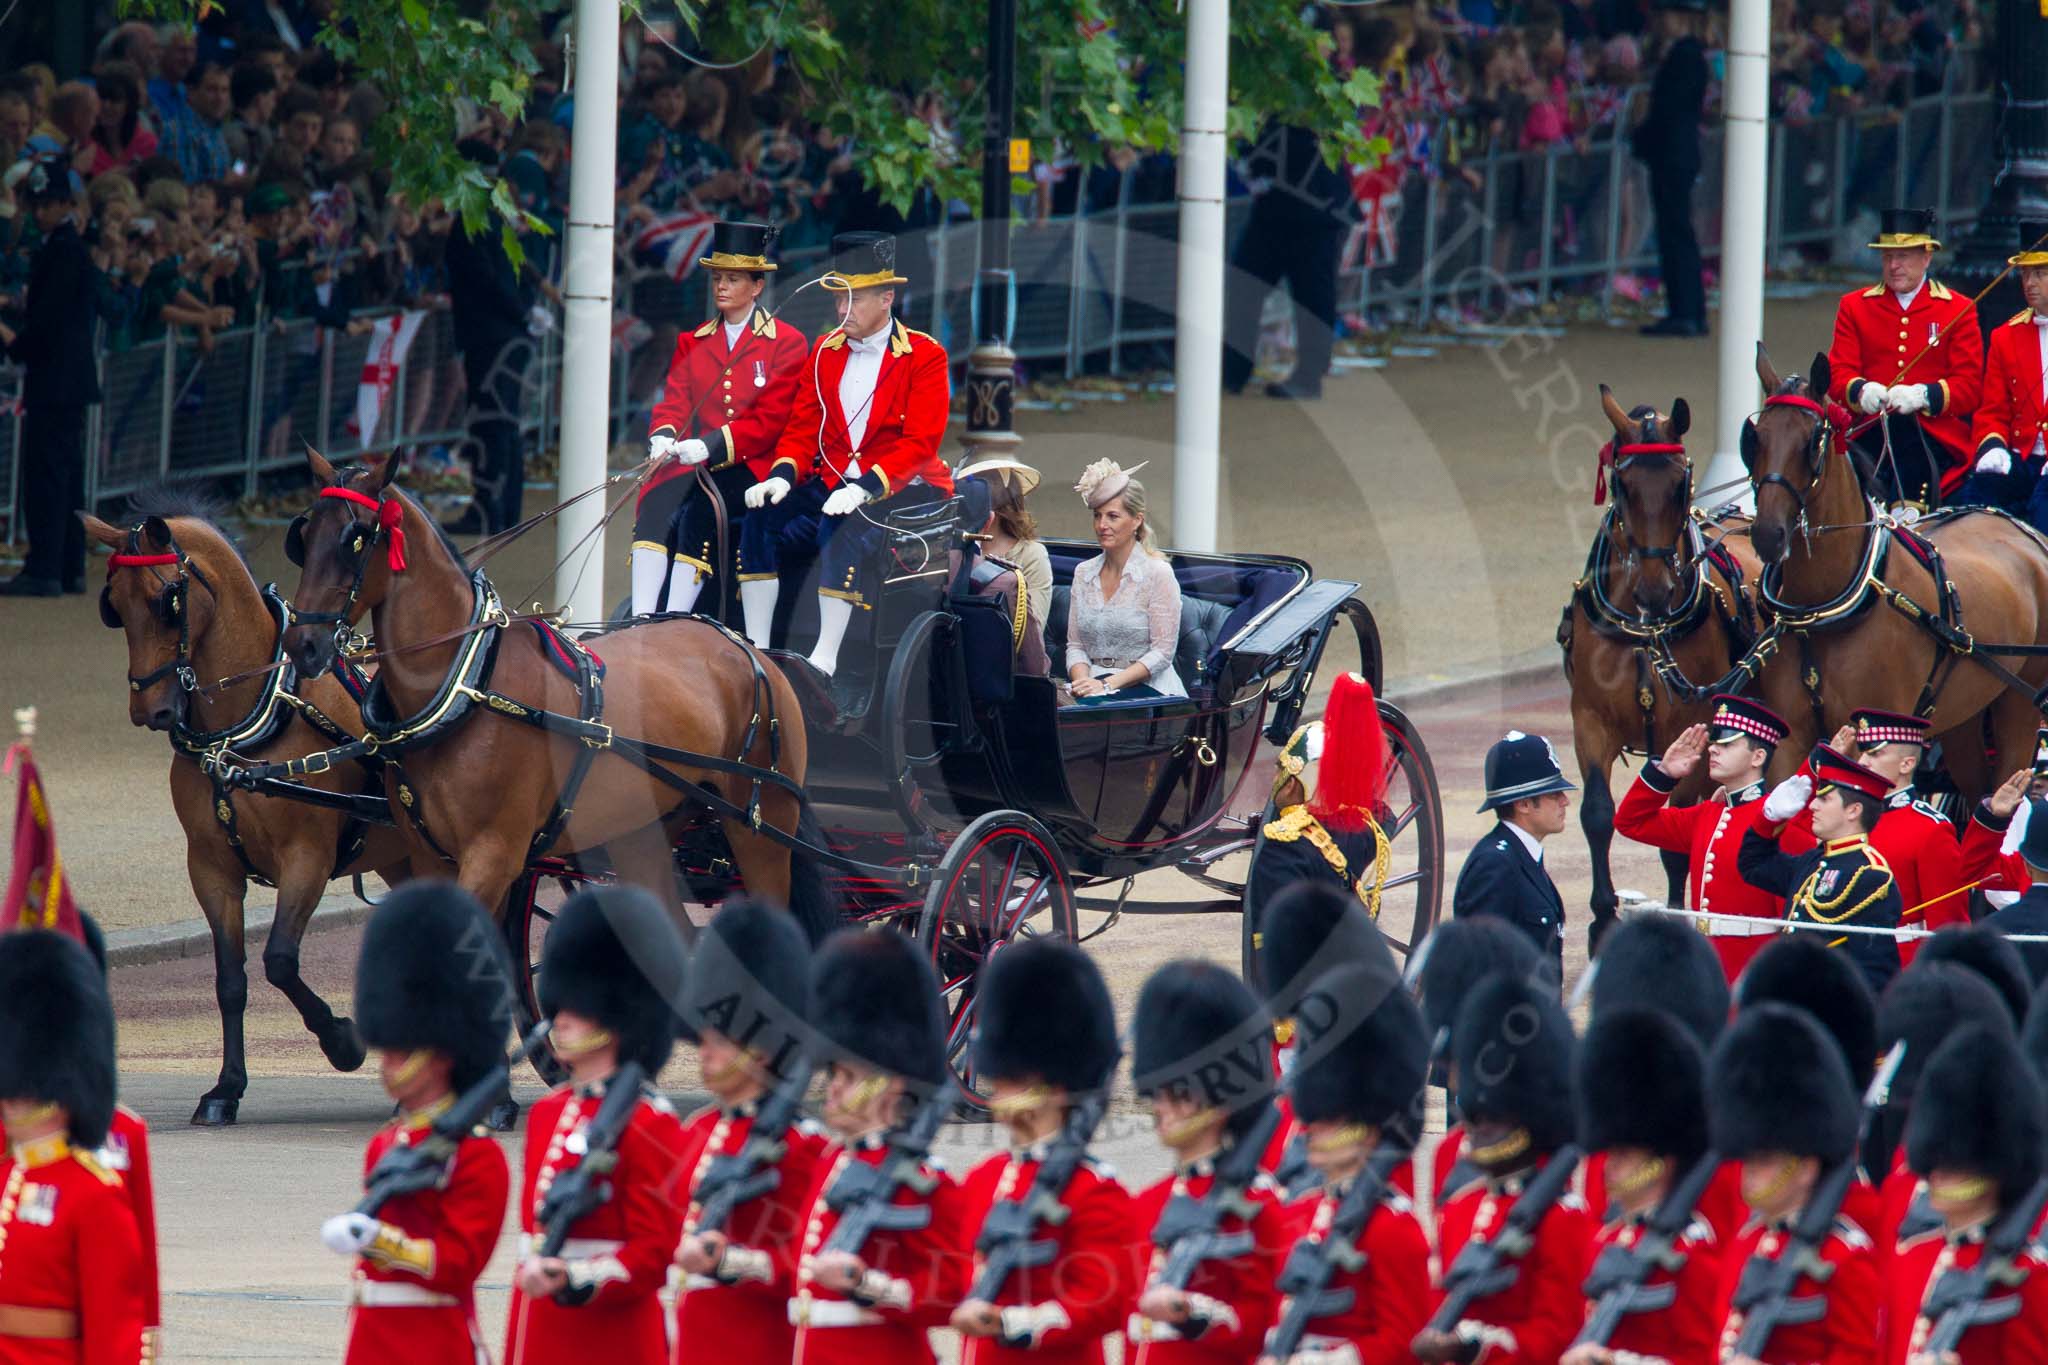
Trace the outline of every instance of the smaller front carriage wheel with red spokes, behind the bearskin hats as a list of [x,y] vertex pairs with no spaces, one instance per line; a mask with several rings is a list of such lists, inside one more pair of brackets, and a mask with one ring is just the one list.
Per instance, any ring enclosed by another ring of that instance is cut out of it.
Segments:
[[1077,937],[1073,878],[1044,825],[991,810],[946,849],[918,917],[918,945],[932,958],[946,1007],[946,1062],[971,1109],[987,1109],[967,1056],[975,976],[1004,945],[1034,935]]

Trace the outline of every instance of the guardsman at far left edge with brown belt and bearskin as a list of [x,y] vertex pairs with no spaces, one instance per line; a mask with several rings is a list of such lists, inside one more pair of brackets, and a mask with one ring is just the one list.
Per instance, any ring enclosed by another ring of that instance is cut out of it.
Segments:
[[92,956],[49,929],[0,935],[0,1361],[135,1365],[141,1238],[92,1152],[115,1111],[115,1011]]

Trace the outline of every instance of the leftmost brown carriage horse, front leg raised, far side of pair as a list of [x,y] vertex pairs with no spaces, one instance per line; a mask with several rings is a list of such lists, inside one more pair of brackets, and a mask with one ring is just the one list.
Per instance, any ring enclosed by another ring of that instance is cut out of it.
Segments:
[[[332,729],[360,735],[356,702],[332,673],[307,673],[285,692],[281,616],[266,604],[240,551],[203,510],[158,495],[123,530],[82,516],[86,534],[113,551],[100,618],[127,634],[129,720],[172,737],[170,798],[184,827],[184,870],[213,935],[213,995],[221,1011],[221,1072],[195,1124],[233,1124],[248,1091],[242,1019],[248,960],[242,939],[252,880],[276,886],[276,917],[262,950],[264,978],[291,999],[319,1050],[340,1070],[362,1064],[354,1025],[299,976],[299,939],[336,876],[377,872],[406,878],[410,847],[389,825],[283,796],[227,792],[201,769],[199,753],[227,745],[244,761],[283,761],[332,747]],[[225,688],[195,686],[238,677]],[[336,794],[360,794],[373,776],[342,763],[305,778]]]

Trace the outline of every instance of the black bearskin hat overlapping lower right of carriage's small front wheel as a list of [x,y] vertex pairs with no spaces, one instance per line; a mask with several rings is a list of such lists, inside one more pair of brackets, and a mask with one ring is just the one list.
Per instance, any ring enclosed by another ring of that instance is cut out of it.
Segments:
[[1096,962],[1071,939],[999,948],[975,984],[975,1070],[991,1081],[1038,1078],[1067,1093],[1100,1091],[1116,1074],[1116,1007]]

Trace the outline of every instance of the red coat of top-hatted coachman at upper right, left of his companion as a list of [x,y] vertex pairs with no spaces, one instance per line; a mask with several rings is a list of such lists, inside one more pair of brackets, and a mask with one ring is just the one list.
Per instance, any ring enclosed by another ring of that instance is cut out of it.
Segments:
[[[1827,348],[1829,395],[1864,420],[1858,397],[1866,383],[1929,385],[1921,432],[1948,452],[1942,493],[1954,493],[1970,473],[1970,413],[1985,383],[1985,340],[1976,305],[1937,280],[1921,284],[1911,307],[1884,284],[1851,289],[1835,309],[1835,344]],[[1896,422],[1896,417],[1892,417]]]

